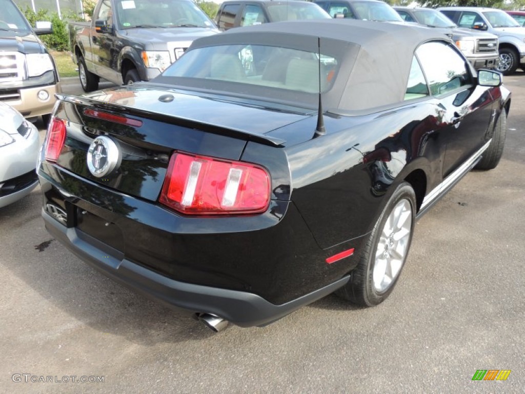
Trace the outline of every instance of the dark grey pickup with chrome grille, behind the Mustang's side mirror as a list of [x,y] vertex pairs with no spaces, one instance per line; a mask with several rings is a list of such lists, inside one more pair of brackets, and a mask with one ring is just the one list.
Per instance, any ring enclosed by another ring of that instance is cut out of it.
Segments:
[[452,40],[476,69],[496,67],[499,60],[498,36],[458,28],[444,14],[433,8],[394,7],[405,22],[449,30]]

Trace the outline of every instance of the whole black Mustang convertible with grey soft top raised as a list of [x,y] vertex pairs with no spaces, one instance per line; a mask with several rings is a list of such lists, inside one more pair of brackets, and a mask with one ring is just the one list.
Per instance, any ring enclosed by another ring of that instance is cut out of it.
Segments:
[[498,164],[510,99],[435,29],[230,29],[151,82],[59,97],[38,165],[44,222],[105,275],[215,329],[334,291],[377,305],[415,219]]

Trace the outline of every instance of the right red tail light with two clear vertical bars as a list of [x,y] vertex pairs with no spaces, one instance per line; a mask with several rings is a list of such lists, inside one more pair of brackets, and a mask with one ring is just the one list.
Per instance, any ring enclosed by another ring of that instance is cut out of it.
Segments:
[[254,164],[175,153],[159,201],[194,215],[264,212],[270,175]]

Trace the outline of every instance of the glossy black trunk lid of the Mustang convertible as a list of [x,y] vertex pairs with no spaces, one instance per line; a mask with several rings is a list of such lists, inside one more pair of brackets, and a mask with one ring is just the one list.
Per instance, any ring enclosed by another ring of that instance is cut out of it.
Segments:
[[[137,94],[136,90],[119,88],[109,93],[99,92],[97,99],[59,96],[61,102],[55,117],[66,120],[67,137],[57,164],[119,192],[155,201],[162,189],[173,151],[239,160],[249,141],[274,147],[285,143],[262,133],[263,130],[271,131],[271,128],[283,127],[309,117],[277,112],[272,118],[275,119],[277,115],[278,121],[274,120],[266,126],[254,125],[248,122],[250,115],[252,119],[262,119],[263,115],[268,118],[268,110],[216,100],[207,100],[206,110],[202,108],[197,111],[188,110],[187,103],[181,103],[182,99],[178,105],[177,102],[173,103],[175,100],[169,99],[169,106],[159,111],[158,106],[166,104],[159,101],[163,95],[166,94],[162,91],[155,92],[154,108],[151,105],[151,91],[148,91],[147,97],[140,92]],[[102,101],[104,98],[106,100]],[[200,98],[192,97],[192,100],[195,106],[203,105]],[[154,109],[156,113],[153,113]],[[239,117],[250,127],[253,125],[253,130],[237,127],[240,124]],[[214,124],[206,121],[206,118]],[[219,118],[222,120],[219,121]],[[115,142],[121,154],[116,168],[102,177],[90,171],[87,159],[90,145],[100,136]]]

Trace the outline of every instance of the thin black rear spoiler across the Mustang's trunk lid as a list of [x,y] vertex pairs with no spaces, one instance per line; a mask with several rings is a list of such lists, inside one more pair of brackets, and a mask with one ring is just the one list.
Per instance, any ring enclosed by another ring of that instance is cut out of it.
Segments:
[[129,116],[157,120],[157,121],[161,121],[164,123],[170,123],[171,125],[183,126],[189,129],[198,129],[198,130],[206,131],[206,132],[213,133],[213,134],[219,134],[220,136],[243,139],[243,140],[258,142],[258,143],[275,146],[275,147],[281,146],[286,143],[286,140],[282,140],[280,138],[275,138],[275,137],[269,137],[269,136],[266,136],[266,134],[256,134],[248,130],[239,130],[239,129],[220,127],[217,125],[213,125],[212,123],[197,121],[197,120],[178,117],[178,116],[177,117],[170,116],[164,113],[145,111],[145,110],[134,108],[134,107],[128,107],[128,106],[123,106],[123,105],[119,105],[115,103],[93,100],[87,97],[79,97],[79,96],[74,96],[74,95],[63,95],[63,94],[56,94],[55,97],[60,101],[70,102],[72,104],[80,104],[80,105],[85,105],[85,106],[89,106],[92,108],[96,108],[99,110],[118,112],[120,114],[125,114]]

